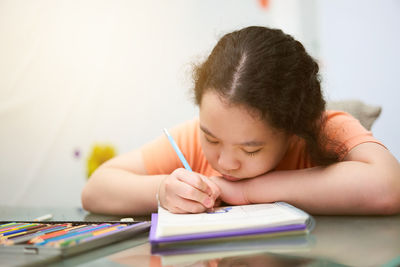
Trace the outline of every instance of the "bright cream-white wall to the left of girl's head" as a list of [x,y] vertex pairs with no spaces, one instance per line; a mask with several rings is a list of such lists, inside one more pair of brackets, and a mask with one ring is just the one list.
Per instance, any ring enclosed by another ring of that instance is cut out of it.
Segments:
[[92,144],[195,116],[191,64],[253,24],[257,1],[0,1],[0,204],[80,205]]

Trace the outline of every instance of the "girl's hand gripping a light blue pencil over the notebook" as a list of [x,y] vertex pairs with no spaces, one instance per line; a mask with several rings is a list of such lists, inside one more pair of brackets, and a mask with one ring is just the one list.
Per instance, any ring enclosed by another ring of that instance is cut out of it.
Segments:
[[214,207],[220,195],[218,186],[193,172],[172,136],[166,129],[164,132],[185,169],[176,169],[161,182],[158,190],[161,206],[173,213],[199,213]]

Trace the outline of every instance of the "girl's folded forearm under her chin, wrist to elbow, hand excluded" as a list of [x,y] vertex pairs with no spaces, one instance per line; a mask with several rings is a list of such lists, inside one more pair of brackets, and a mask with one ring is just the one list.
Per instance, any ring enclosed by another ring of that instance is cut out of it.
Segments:
[[398,209],[399,179],[387,178],[364,162],[276,171],[245,183],[251,203],[285,201],[313,214],[386,214]]

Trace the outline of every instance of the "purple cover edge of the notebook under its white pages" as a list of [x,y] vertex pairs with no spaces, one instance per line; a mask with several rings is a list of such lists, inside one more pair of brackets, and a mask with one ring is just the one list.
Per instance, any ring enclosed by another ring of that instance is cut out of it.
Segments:
[[273,226],[273,227],[256,228],[256,229],[227,230],[227,231],[185,234],[179,236],[168,236],[168,237],[157,238],[156,237],[157,223],[158,223],[158,214],[152,213],[149,241],[153,245],[160,243],[169,243],[169,242],[191,241],[191,240],[235,237],[235,236],[250,236],[258,234],[299,231],[307,229],[306,224],[292,224],[292,225],[282,225],[282,226]]

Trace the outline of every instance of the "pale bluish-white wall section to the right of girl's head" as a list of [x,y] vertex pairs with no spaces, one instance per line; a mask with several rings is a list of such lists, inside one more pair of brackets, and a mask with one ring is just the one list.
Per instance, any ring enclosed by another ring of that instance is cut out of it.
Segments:
[[382,107],[372,127],[400,160],[400,1],[318,2],[323,84],[330,100]]

